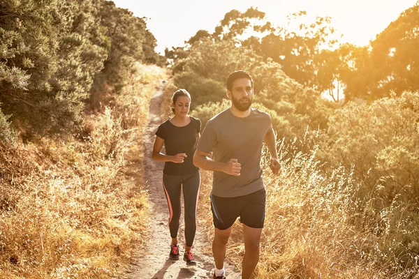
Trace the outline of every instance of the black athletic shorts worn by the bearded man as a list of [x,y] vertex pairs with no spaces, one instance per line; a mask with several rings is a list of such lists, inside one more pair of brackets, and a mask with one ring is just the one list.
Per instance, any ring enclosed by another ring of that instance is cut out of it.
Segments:
[[240,222],[248,227],[263,228],[265,222],[265,188],[240,197],[217,197],[211,194],[214,227],[228,229],[240,216]]

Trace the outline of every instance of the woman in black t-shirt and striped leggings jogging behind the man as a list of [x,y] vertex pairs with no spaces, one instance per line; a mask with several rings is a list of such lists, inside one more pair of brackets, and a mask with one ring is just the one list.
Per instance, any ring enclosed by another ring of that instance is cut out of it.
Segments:
[[[200,186],[198,167],[192,163],[193,153],[200,137],[200,120],[188,115],[191,95],[185,89],[177,90],[172,96],[172,118],[161,123],[156,132],[152,158],[165,162],[163,188],[168,200],[169,229],[172,243],[170,259],[179,259],[177,231],[181,212],[181,188],[184,195],[185,252],[187,265],[196,265],[191,247],[196,232],[196,206]],[[166,154],[161,153],[163,144]],[[183,186],[183,187],[182,187]]]

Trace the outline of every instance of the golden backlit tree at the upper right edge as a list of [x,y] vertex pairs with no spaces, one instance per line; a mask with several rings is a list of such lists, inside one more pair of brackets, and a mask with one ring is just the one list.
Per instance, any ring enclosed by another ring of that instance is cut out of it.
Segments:
[[[376,36],[367,57],[367,70],[371,70],[366,93],[370,98],[388,96],[388,92],[419,90],[419,3],[404,10],[397,20]],[[357,94],[358,92],[352,92]]]

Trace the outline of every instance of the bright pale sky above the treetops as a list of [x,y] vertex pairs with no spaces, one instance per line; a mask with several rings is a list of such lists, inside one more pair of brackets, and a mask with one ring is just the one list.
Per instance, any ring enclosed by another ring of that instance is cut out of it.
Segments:
[[147,18],[147,28],[157,40],[156,52],[184,45],[200,29],[214,32],[230,10],[251,6],[266,14],[272,24],[285,27],[286,16],[300,10],[307,15],[330,16],[332,26],[343,34],[342,43],[367,45],[417,0],[112,0],[117,7]]

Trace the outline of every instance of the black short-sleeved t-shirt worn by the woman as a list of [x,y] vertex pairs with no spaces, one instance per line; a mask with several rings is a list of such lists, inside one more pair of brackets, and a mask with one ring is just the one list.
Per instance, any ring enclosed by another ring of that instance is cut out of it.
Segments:
[[198,172],[198,167],[192,163],[195,152],[196,134],[200,133],[200,120],[191,116],[191,122],[183,127],[177,127],[170,123],[169,119],[161,123],[156,135],[164,140],[166,155],[186,153],[184,163],[166,162],[163,174],[184,175]]

